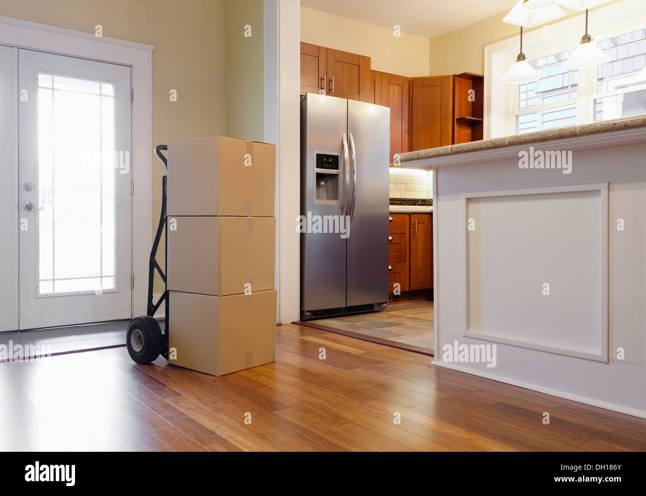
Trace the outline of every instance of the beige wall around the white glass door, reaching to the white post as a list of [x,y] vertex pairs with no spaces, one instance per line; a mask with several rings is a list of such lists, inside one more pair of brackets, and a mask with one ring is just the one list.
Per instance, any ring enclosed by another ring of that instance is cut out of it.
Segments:
[[[225,3],[229,23],[224,21]],[[248,15],[251,21],[246,20]],[[153,145],[220,134],[262,140],[262,0],[0,0],[0,16],[91,34],[94,26],[100,24],[103,36],[154,45]],[[242,26],[238,30],[229,28],[229,24],[242,20],[244,24],[253,24],[250,40],[237,36],[238,32],[242,35]],[[233,54],[228,59],[225,34]],[[245,41],[251,41],[247,43],[251,50],[245,51]],[[240,68],[236,69],[236,61],[242,61]],[[252,77],[247,78],[247,74]],[[169,100],[171,89],[177,90],[176,102]],[[256,94],[256,98],[247,99],[249,93]],[[227,111],[232,116],[229,126]],[[255,115],[257,119],[253,118]],[[245,123],[249,123],[248,128]],[[163,176],[163,166],[157,158],[153,158],[152,171],[155,231]],[[163,262],[163,257],[160,247],[158,260]],[[156,281],[154,291],[163,291],[161,280]]]

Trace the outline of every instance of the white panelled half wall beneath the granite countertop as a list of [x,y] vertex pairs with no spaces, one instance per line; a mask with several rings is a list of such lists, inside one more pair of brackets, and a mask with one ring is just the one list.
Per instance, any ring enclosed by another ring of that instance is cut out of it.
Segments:
[[[646,134],[640,136],[607,147],[599,137],[597,149],[575,149],[571,174],[519,169],[514,154],[465,154],[460,164],[435,167],[433,364],[646,418]],[[472,233],[468,218],[475,218]],[[545,282],[552,283],[549,296]],[[495,344],[495,367],[445,357],[456,341]]]

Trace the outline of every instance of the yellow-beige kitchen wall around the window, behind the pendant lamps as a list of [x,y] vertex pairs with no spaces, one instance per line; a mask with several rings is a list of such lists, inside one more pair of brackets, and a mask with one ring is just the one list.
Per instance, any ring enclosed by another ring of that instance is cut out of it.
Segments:
[[[599,8],[620,1],[614,0],[599,6]],[[511,7],[512,3],[510,2]],[[568,17],[581,14],[581,12],[569,8],[563,8],[563,10],[565,10],[567,15],[556,19],[556,21],[552,21],[552,23],[557,23]],[[590,10],[590,15],[592,15],[594,10]],[[461,72],[484,74],[485,45],[520,34],[519,26],[503,23],[503,17],[508,12],[508,10],[505,10],[505,12],[501,12],[495,16],[487,17],[472,25],[464,26],[464,28],[431,39],[429,43],[430,75],[441,76],[443,74],[460,74]],[[541,28],[542,26],[537,26],[536,28],[526,29],[525,32]],[[583,35],[583,28],[584,26],[582,25],[581,35]]]

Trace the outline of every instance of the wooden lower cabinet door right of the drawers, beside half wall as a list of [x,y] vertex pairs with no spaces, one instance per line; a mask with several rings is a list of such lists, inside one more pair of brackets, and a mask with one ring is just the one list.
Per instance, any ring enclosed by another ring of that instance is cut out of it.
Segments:
[[433,287],[433,214],[410,215],[410,289]]

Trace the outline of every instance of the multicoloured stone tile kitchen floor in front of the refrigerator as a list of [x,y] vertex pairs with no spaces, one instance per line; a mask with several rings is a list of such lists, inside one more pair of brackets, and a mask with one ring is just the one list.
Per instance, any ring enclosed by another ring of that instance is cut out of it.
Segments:
[[433,302],[390,304],[382,312],[319,318],[313,324],[433,350]]

